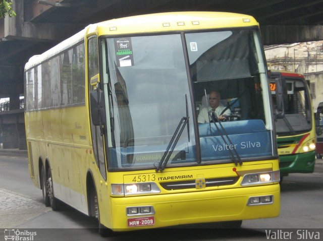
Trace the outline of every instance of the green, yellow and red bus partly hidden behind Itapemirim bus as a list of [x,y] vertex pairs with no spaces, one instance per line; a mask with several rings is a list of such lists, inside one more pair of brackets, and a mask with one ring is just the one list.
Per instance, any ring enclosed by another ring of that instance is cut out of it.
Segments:
[[[303,75],[271,72],[271,88],[275,97],[275,83],[281,83],[284,116],[276,119],[281,182],[289,173],[312,173],[315,166],[315,119],[308,84]],[[274,98],[275,100],[275,98]]]

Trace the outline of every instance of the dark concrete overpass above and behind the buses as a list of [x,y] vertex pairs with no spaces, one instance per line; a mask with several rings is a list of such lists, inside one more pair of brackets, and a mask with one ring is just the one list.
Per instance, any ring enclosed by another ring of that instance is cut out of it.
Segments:
[[[90,23],[173,11],[221,11],[249,14],[260,23],[264,45],[323,39],[323,0],[14,0],[17,16],[0,19],[0,110],[5,148],[26,148],[23,69],[39,54]],[[8,107],[7,106],[7,107]]]

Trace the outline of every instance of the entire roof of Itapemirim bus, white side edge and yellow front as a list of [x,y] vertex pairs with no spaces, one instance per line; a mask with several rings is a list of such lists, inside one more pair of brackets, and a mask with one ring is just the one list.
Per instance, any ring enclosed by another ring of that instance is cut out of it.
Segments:
[[76,45],[84,40],[85,35],[124,35],[251,26],[259,26],[253,17],[225,12],[170,12],[112,19],[91,24],[44,53],[32,56],[25,65],[25,71]]

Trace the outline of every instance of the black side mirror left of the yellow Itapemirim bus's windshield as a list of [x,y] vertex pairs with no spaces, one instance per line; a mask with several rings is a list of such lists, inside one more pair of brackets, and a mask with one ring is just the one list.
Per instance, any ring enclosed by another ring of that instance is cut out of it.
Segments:
[[104,93],[102,90],[90,92],[91,119],[94,126],[105,125]]

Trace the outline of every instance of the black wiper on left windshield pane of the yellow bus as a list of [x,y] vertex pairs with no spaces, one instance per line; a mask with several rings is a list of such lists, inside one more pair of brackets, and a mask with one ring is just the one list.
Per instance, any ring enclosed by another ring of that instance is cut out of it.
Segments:
[[[166,168],[167,162],[169,161],[169,159],[171,158],[171,155],[178,143],[178,140],[180,139],[185,126],[187,125],[188,127],[188,105],[187,105],[187,95],[185,95],[185,100],[186,100],[186,116],[183,116],[181,118],[180,123],[177,125],[177,128],[172,136],[172,139],[170,141],[170,143],[168,144],[166,151],[164,152],[163,157],[161,157],[160,161],[158,162],[158,166],[156,167],[156,172],[157,171],[164,171],[164,169]],[[189,141],[189,127],[187,129],[188,132],[188,141]],[[170,150],[170,148],[172,147],[172,149]]]

